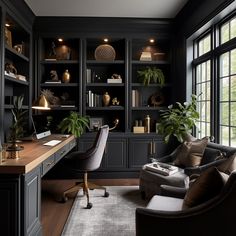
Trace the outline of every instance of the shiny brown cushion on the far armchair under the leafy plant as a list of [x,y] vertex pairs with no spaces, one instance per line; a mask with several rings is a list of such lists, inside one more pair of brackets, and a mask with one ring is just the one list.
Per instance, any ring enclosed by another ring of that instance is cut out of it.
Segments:
[[176,154],[174,164],[183,167],[200,165],[208,140],[209,137],[204,137],[192,142],[184,142]]

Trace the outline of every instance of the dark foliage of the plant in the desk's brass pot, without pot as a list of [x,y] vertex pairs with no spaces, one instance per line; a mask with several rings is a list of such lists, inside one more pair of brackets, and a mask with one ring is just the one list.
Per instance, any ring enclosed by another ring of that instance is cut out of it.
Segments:
[[24,96],[15,96],[13,97],[13,108],[11,109],[13,120],[12,125],[10,126],[10,135],[9,141],[16,142],[24,134],[24,115],[27,110],[23,110],[23,100]]

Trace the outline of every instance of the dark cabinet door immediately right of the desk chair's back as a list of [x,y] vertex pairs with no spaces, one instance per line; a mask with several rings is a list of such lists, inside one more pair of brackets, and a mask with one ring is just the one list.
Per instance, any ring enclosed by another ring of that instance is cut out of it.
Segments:
[[105,170],[126,168],[126,139],[110,139],[107,142],[104,162]]

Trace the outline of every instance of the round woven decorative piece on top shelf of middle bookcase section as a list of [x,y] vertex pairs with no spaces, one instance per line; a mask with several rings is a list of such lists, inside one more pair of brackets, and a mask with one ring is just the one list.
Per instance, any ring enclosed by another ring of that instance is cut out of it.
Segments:
[[97,61],[114,61],[116,51],[111,45],[102,44],[95,49],[94,57]]

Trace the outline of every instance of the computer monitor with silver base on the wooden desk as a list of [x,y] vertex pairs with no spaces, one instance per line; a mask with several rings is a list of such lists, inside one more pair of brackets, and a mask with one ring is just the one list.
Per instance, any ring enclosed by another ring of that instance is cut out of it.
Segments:
[[51,135],[50,129],[47,127],[47,118],[41,115],[34,115],[32,125],[37,139],[41,139]]

